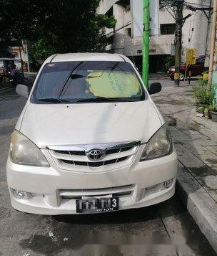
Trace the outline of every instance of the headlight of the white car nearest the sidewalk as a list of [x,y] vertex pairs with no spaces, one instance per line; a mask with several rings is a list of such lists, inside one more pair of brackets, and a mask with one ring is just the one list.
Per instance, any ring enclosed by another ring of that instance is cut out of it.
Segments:
[[164,124],[148,141],[143,150],[141,161],[166,156],[173,150],[171,133]]

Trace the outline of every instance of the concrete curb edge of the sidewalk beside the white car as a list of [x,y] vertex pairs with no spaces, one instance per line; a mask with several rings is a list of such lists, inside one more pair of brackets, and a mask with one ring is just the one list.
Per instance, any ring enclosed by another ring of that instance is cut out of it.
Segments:
[[217,253],[217,203],[185,167],[178,169],[176,191]]

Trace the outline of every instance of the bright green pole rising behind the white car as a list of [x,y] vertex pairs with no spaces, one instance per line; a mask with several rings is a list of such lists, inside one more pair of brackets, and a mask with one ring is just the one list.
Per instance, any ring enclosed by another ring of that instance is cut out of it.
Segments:
[[149,70],[150,6],[149,0],[143,0],[143,82],[148,88]]

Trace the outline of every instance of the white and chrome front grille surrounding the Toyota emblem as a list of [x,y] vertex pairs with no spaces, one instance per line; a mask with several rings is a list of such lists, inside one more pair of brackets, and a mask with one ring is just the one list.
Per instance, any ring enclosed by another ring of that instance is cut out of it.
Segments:
[[82,169],[84,169],[85,171],[87,168],[112,169],[121,166],[127,166],[133,160],[133,157],[136,155],[136,152],[138,150],[139,143],[130,143],[130,145],[128,144],[129,143],[123,143],[118,144],[118,146],[110,147],[108,146],[108,144],[106,144],[105,148],[103,147],[103,145],[100,145],[101,149],[104,151],[104,157],[102,159],[99,159],[99,161],[92,161],[87,156],[87,152],[91,148],[97,148],[97,145],[89,145],[88,150],[85,146],[84,148],[82,148],[82,146],[71,146],[69,150],[64,150],[64,146],[62,147],[63,149],[59,149],[61,148],[61,146],[59,146],[58,148],[52,147],[49,152],[54,158],[54,161],[56,161],[56,164],[61,169],[75,171],[82,171]]

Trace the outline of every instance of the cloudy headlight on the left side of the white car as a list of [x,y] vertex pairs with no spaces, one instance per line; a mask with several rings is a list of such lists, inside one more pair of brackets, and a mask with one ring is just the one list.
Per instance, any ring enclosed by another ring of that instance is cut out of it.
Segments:
[[11,161],[28,166],[49,166],[41,150],[19,131],[11,134]]

